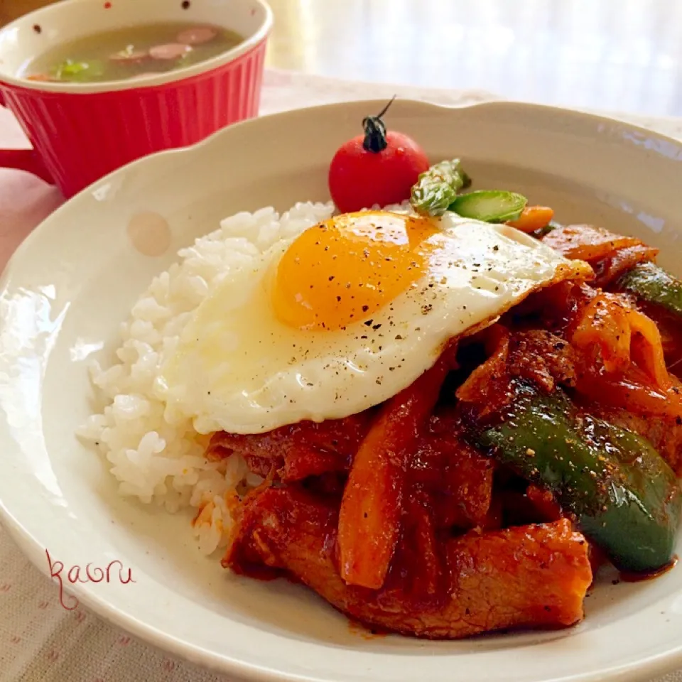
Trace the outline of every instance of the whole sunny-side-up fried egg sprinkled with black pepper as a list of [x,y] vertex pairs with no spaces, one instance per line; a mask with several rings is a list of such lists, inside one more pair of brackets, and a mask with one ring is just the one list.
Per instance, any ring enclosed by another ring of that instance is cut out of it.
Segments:
[[451,213],[332,217],[227,273],[200,304],[162,368],[166,418],[264,433],[361,412],[450,338],[591,273],[512,227]]

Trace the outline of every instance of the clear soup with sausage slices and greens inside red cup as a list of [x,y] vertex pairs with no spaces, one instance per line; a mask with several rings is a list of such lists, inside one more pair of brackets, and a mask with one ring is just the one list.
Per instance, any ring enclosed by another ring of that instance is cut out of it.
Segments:
[[29,63],[21,75],[67,83],[126,80],[203,62],[242,40],[237,33],[208,24],[166,22],[117,28],[58,45]]

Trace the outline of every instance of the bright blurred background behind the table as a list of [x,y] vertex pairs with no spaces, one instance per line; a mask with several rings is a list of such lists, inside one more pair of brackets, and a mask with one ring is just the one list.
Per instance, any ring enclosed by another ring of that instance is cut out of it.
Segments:
[[[0,0],[0,23],[48,1]],[[682,116],[682,0],[269,2],[271,67]]]

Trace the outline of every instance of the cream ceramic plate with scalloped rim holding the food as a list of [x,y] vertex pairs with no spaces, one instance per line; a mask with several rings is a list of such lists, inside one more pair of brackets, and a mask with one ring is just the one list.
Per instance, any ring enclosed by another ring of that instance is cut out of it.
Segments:
[[[87,361],[117,345],[119,323],[151,277],[232,212],[326,199],[332,153],[381,104],[266,117],[146,158],[75,197],[26,240],[0,283],[5,526],[45,573],[46,549],[67,568],[118,559],[136,582],[75,585],[78,599],[148,642],[239,678],[596,682],[682,664],[682,567],[649,583],[603,578],[573,629],[463,642],[367,639],[304,588],[230,577],[217,559],[202,558],[187,516],[119,499],[104,463],[75,438],[91,411]],[[555,207],[558,220],[636,234],[664,247],[661,264],[682,274],[676,141],[520,104],[399,101],[386,120],[434,161],[465,158],[477,187],[520,190]],[[168,221],[161,256],[140,254],[126,232],[144,211]]]

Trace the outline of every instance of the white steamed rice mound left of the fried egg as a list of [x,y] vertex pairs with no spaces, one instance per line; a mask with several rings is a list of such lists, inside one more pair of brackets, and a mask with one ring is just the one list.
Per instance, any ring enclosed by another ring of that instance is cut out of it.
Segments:
[[331,203],[299,203],[281,216],[273,208],[237,213],[220,229],[178,252],[180,261],[154,278],[121,325],[117,364],[95,362],[92,383],[106,405],[88,418],[78,435],[107,458],[121,495],[168,511],[194,508],[200,551],[210,554],[227,544],[232,528],[228,500],[235,487],[257,485],[239,457],[208,462],[207,438],[190,421],[170,423],[156,382],[163,362],[198,305],[230,269],[247,264],[278,239],[303,232],[333,212]]

